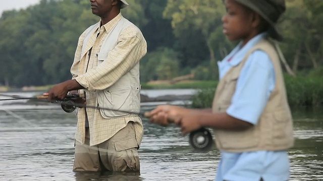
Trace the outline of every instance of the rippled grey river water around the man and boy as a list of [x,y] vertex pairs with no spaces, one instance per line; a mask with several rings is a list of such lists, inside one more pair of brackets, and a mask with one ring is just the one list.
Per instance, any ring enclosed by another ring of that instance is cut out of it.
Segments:
[[[194,90],[175,92],[188,94]],[[166,93],[174,91],[145,91],[150,97]],[[17,94],[29,97],[35,93]],[[155,103],[144,104],[142,109],[155,106]],[[293,117],[296,141],[289,150],[290,180],[323,180],[323,112],[293,110]],[[206,153],[194,152],[188,136],[182,136],[179,128],[149,124],[144,118],[143,124],[140,175],[75,174],[72,172],[76,126],[73,113],[65,113],[57,105],[0,103],[0,180],[214,179],[219,151],[214,148]]]

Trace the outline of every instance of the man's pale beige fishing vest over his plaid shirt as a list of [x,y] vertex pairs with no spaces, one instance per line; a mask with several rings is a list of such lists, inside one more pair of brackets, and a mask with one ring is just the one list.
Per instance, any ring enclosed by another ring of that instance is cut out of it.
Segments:
[[[97,56],[97,65],[100,65],[103,61],[107,61],[109,52],[118,44],[120,33],[129,26],[135,25],[122,17],[109,34],[107,34]],[[91,33],[95,31],[96,27],[97,24],[87,30],[89,33],[84,39],[84,45],[86,45]],[[140,89],[139,63],[137,63],[116,83],[102,91],[96,91],[97,106],[107,108],[105,110],[100,109],[101,116],[105,119],[113,119],[137,115],[134,113],[140,112]]]

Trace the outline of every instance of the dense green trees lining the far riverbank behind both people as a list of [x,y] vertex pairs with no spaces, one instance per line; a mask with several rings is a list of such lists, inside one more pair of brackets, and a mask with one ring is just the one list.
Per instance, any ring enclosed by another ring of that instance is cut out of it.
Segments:
[[[323,64],[323,1],[287,0],[280,43],[287,64],[297,72]],[[148,42],[141,80],[194,74],[217,80],[217,61],[233,48],[222,34],[222,0],[128,0],[123,15]],[[0,18],[0,85],[47,85],[71,78],[79,35],[99,21],[88,0],[42,0]],[[286,67],[285,67],[286,68]]]

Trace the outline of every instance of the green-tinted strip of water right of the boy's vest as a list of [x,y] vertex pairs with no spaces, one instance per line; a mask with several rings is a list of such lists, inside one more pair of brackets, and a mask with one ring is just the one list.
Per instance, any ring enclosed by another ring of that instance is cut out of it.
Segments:
[[323,180],[323,113],[293,110],[295,146],[289,151],[291,180]]

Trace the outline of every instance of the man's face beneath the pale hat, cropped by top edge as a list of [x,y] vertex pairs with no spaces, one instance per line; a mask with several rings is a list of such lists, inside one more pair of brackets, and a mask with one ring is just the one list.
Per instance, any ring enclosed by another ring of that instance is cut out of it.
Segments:
[[114,0],[90,0],[92,13],[99,17],[109,15],[114,4],[117,1]]

